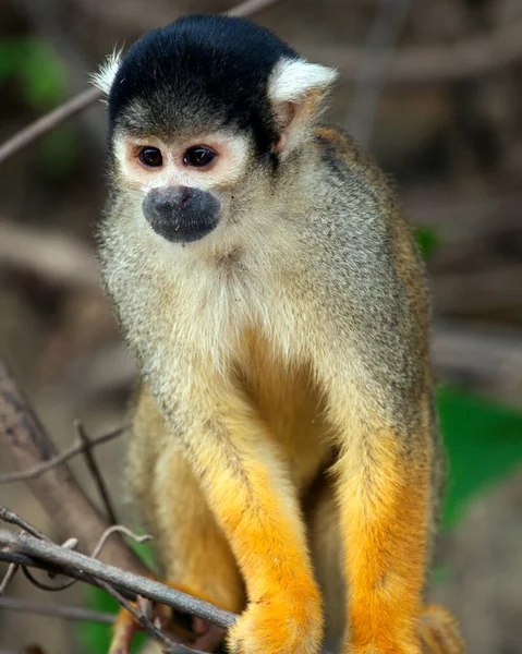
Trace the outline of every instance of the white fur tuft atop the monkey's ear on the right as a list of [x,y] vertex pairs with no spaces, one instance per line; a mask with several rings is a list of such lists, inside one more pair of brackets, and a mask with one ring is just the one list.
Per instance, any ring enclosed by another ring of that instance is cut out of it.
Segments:
[[276,64],[268,83],[274,102],[292,102],[312,90],[325,92],[336,80],[337,71],[304,59],[282,59]]

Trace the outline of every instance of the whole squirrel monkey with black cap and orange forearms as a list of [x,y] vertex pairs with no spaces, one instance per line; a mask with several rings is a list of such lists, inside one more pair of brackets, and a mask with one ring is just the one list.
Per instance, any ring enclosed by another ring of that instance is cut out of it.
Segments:
[[130,475],[167,582],[241,613],[230,652],[459,654],[450,614],[423,609],[441,484],[424,269],[384,174],[318,125],[335,77],[217,16],[96,75],[104,277],[143,380]]

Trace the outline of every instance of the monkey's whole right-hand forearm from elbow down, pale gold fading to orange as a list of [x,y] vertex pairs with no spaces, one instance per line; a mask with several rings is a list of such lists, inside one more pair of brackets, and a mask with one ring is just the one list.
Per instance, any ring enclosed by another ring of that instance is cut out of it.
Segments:
[[344,652],[420,654],[432,501],[427,409],[412,409],[412,424],[403,417],[392,426],[391,411],[353,387],[348,395],[344,387],[330,397],[343,398],[332,401],[331,415],[340,434],[337,495],[349,584]]

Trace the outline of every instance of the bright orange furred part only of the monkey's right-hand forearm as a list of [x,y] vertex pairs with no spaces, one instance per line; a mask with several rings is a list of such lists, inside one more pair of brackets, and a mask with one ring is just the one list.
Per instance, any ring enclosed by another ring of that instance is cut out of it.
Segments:
[[399,452],[391,433],[379,439],[371,451],[374,469],[361,461],[339,488],[347,498],[341,520],[349,543],[351,647],[413,654],[426,566],[429,467]]

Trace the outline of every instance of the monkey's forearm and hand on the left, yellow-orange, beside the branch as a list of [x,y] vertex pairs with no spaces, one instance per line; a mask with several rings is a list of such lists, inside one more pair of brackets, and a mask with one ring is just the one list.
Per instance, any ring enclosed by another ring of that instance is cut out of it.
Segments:
[[161,403],[175,407],[167,421],[181,435],[245,580],[248,606],[229,634],[231,650],[315,652],[321,602],[283,457],[224,374],[191,365],[193,383],[184,385],[183,397]]

